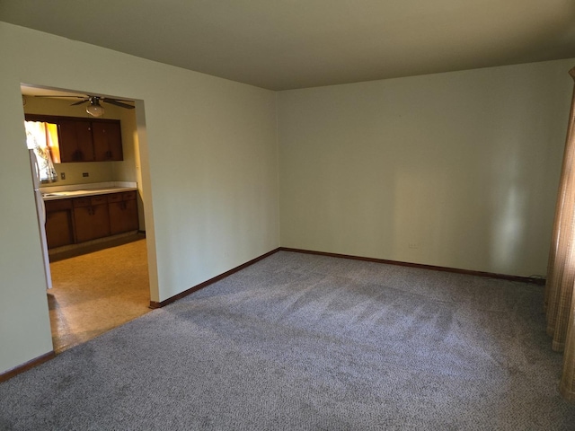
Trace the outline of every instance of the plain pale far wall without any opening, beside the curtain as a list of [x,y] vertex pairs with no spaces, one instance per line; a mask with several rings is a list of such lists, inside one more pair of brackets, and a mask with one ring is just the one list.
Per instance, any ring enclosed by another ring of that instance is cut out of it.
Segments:
[[544,276],[571,66],[279,92],[281,245]]

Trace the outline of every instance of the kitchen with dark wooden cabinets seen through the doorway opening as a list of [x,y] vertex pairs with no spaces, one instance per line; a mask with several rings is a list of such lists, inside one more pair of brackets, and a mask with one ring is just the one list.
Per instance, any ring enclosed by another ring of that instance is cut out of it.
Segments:
[[[145,237],[146,224],[136,115],[135,110],[127,109],[129,101],[118,101],[117,105],[114,100],[96,102],[98,108],[94,116],[86,110],[86,107],[93,108],[93,102],[84,101],[84,93],[29,85],[21,88],[26,119],[35,121],[27,122],[27,128],[43,124],[37,121],[58,123],[53,126],[57,130],[53,132],[55,148],[50,149],[54,155],[54,163],[50,163],[51,177],[39,184],[41,198],[37,198],[39,218],[46,215],[46,229],[40,229],[40,233],[46,233],[42,242],[47,243],[45,250],[48,249],[47,286],[54,281],[54,287],[47,293],[52,339],[58,352],[98,335],[102,329],[110,329],[111,325],[117,326],[114,320],[121,324],[148,310],[146,241],[137,241]],[[66,133],[70,126],[81,129],[86,124],[89,137],[94,135],[94,142],[97,133],[107,132],[108,141],[115,145],[103,157],[90,156],[92,160],[100,160],[98,162],[71,159],[77,154],[70,155],[70,139]],[[27,135],[30,141],[30,133]],[[117,139],[111,138],[116,135]],[[48,133],[46,136],[49,139]],[[34,143],[28,142],[28,146],[33,147]],[[129,245],[130,242],[134,244]],[[132,247],[132,250],[121,247]],[[106,257],[102,253],[117,254]],[[104,263],[106,259],[111,261]],[[135,281],[140,277],[138,286],[128,286],[129,280],[122,277],[106,275],[105,282],[99,278],[120,261],[122,273],[137,270],[131,279]],[[121,293],[126,298],[119,295]],[[114,307],[118,311],[114,312]]]

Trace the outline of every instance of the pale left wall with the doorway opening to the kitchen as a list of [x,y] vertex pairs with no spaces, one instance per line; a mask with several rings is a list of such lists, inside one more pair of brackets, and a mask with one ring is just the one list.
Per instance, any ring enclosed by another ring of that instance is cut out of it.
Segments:
[[21,83],[137,100],[153,301],[279,246],[274,92],[4,22],[0,58],[0,373],[52,349]]

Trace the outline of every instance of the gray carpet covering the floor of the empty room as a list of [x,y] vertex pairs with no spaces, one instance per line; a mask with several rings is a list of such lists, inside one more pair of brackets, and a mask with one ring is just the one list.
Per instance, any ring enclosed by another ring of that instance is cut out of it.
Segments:
[[0,385],[24,430],[560,430],[543,287],[280,251]]

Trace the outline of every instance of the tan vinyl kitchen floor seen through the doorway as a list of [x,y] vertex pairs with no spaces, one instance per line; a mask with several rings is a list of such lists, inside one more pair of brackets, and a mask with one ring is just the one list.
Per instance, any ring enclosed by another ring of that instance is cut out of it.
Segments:
[[48,302],[56,353],[150,311],[145,239],[52,261],[50,269]]

